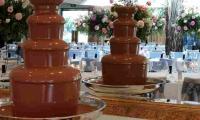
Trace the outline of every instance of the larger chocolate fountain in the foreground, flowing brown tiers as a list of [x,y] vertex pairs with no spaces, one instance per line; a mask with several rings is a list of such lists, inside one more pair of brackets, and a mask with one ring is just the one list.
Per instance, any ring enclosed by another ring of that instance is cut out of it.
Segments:
[[64,19],[57,13],[63,0],[30,0],[29,39],[23,43],[24,66],[11,74],[15,116],[53,117],[76,114],[80,73],[67,64],[62,41]]

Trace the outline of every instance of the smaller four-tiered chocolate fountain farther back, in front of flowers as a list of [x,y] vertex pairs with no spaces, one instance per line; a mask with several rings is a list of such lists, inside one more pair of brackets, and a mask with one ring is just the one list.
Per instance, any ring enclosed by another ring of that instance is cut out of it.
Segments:
[[107,85],[145,85],[147,60],[138,55],[139,39],[134,31],[135,7],[115,7],[118,19],[114,22],[111,54],[102,59],[103,83]]

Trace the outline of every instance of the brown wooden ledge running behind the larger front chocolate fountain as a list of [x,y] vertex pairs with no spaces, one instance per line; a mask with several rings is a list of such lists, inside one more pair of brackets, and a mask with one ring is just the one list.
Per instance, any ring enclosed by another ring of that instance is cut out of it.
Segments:
[[[9,89],[0,89],[0,98],[9,97]],[[101,97],[107,106],[104,114],[152,120],[200,120],[200,106],[169,104],[137,99]]]

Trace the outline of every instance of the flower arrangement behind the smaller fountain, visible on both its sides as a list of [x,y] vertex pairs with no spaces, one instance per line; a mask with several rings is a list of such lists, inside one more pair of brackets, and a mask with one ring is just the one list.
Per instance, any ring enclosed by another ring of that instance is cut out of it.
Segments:
[[[148,8],[151,5],[150,1],[147,1],[146,5],[135,5],[131,0],[121,0],[122,4],[114,4],[115,6],[135,6],[137,12],[134,15],[134,19],[137,20],[137,37],[141,40],[147,40],[147,36],[150,34],[151,29],[151,14]],[[96,10],[93,9],[89,16],[81,16],[76,21],[76,28],[78,31],[88,34],[96,34],[97,36],[110,37],[113,33],[113,21],[117,19],[117,13],[112,10]]]

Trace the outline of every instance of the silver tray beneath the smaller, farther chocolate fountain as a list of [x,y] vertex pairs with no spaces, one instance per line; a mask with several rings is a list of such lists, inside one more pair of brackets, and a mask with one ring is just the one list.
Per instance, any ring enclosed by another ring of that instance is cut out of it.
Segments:
[[149,78],[145,85],[105,85],[102,77],[94,77],[82,80],[89,89],[89,93],[97,96],[127,96],[151,93],[157,90],[164,80]]

